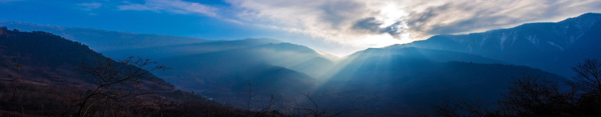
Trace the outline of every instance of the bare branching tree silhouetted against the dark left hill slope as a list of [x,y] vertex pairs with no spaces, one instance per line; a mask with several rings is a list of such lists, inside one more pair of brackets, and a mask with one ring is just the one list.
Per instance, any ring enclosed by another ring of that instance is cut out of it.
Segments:
[[104,59],[79,66],[81,72],[90,76],[93,88],[76,100],[78,107],[75,116],[107,116],[148,106],[145,99],[156,94],[153,88],[162,87],[151,71],[166,70],[166,66],[140,57],[129,57],[114,61],[97,54]]

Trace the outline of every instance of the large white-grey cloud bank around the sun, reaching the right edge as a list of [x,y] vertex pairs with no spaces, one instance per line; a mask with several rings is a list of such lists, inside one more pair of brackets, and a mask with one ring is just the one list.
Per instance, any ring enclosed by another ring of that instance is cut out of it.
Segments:
[[406,43],[438,34],[480,32],[601,12],[601,1],[594,0],[227,2],[238,10],[237,20],[245,23],[363,48],[390,45],[382,42]]

